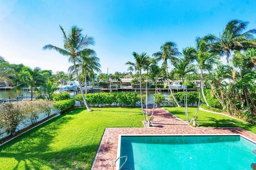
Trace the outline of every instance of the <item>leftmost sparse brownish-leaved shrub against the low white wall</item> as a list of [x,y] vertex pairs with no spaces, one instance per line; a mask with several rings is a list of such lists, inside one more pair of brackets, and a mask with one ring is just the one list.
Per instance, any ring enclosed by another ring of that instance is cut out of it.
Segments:
[[[0,125],[11,135],[15,135],[18,125],[26,119],[24,101],[0,105]],[[24,122],[25,123],[25,122]]]

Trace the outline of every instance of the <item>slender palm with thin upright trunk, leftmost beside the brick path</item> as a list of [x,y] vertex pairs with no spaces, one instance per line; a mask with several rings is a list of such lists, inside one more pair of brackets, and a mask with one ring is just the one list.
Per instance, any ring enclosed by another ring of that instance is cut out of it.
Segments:
[[148,55],[146,55],[145,52],[141,53],[140,55],[136,52],[132,52],[132,55],[134,56],[135,59],[135,63],[132,63],[130,61],[126,62],[125,64],[128,64],[130,66],[134,67],[134,70],[138,71],[140,74],[140,104],[141,104],[141,109],[142,109],[142,114],[144,116],[144,119],[146,121],[146,117],[144,115],[144,111],[143,111],[143,105],[142,105],[142,90],[141,90],[141,75],[142,75],[142,69],[144,68],[145,63],[148,60]]

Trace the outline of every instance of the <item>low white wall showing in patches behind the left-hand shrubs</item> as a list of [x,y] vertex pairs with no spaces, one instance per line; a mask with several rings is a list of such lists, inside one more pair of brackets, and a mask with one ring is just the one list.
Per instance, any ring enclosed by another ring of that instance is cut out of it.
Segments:
[[[60,113],[60,109],[54,107],[54,108],[52,108],[50,115],[58,114],[58,113]],[[41,120],[45,119],[46,117],[48,117],[46,112],[42,112],[42,113],[39,114],[39,117],[38,117],[37,121],[41,121]],[[24,120],[24,122],[26,122],[26,123],[20,123],[18,125],[18,127],[16,128],[16,132],[32,125],[32,122],[30,121],[30,117],[26,118]],[[11,135],[11,133],[7,133],[5,131],[6,131],[5,128],[0,127],[0,139],[3,139],[5,137]]]

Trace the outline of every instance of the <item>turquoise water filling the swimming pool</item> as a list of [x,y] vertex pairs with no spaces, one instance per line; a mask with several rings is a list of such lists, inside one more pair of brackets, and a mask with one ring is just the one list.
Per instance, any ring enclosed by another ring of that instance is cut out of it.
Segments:
[[132,170],[252,170],[252,149],[240,136],[122,136],[120,156]]

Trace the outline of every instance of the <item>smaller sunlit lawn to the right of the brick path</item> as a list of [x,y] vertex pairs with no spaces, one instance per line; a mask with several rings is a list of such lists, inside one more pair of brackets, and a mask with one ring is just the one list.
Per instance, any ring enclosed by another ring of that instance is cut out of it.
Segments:
[[[170,113],[176,115],[180,119],[186,121],[185,109],[179,107],[163,107]],[[188,115],[189,119],[196,113],[196,108],[188,107]],[[198,119],[196,123],[200,125],[200,127],[241,127],[247,131],[250,131],[256,134],[256,126],[251,125],[249,123],[245,123],[244,121],[240,121],[226,115],[220,115],[216,113],[210,113],[207,111],[199,110],[197,113]],[[232,124],[235,123],[235,124]],[[228,123],[228,124],[227,124]]]

